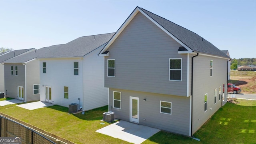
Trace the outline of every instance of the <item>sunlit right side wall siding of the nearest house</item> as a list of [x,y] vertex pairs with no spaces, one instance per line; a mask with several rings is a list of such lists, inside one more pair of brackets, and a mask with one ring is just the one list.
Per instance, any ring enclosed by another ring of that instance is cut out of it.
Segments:
[[[213,60],[213,76],[210,77],[210,60]],[[220,107],[219,87],[221,96],[223,84],[227,80],[227,60],[197,56],[194,58],[193,83],[193,133],[196,132]],[[217,88],[216,104],[214,104],[214,89]],[[204,94],[208,93],[207,111],[204,112]]]

